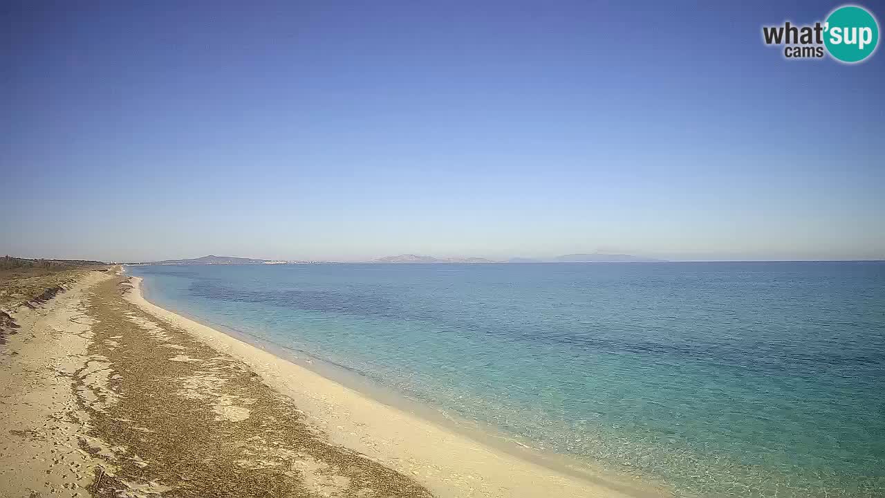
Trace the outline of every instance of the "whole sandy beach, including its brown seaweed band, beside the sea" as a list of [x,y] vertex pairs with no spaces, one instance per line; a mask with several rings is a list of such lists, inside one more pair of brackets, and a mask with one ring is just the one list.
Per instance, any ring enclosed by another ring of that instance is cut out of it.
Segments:
[[120,270],[12,316],[4,495],[642,494],[375,401],[154,306]]

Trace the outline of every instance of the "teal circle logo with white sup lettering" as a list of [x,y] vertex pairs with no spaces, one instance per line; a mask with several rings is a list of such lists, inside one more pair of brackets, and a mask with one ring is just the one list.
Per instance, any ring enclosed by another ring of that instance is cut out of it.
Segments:
[[879,24],[863,7],[845,5],[827,18],[824,44],[833,58],[847,63],[870,57],[879,43]]

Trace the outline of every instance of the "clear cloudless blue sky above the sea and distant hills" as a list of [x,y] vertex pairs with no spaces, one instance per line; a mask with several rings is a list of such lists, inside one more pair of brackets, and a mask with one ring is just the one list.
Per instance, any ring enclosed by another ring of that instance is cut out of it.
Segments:
[[882,259],[885,52],[762,43],[838,5],[4,2],[0,253]]

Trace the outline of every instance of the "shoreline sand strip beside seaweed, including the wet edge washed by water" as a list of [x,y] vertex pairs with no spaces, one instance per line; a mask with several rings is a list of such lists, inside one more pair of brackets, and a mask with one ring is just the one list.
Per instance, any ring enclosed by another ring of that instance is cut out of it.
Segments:
[[[142,292],[142,278],[132,276],[131,279],[134,286],[127,292],[127,300],[150,315],[188,331],[219,352],[246,363],[267,385],[295,401],[312,419],[312,424],[327,432],[335,444],[357,450],[397,471],[411,473],[435,494],[475,495],[453,488],[452,479],[447,477],[466,475],[468,480],[481,482],[485,490],[481,495],[488,496],[656,498],[669,495],[661,488],[630,481],[628,476],[618,479],[596,473],[589,464],[567,455],[542,453],[496,433],[493,428],[453,418],[420,401],[374,385],[358,372],[310,354],[216,323],[212,323],[213,328],[185,314],[159,307]],[[304,355],[307,360],[298,355]],[[372,428],[371,431],[368,428]],[[424,444],[416,444],[415,440],[424,440]],[[404,465],[404,460],[409,464]],[[416,466],[436,471],[416,471]]]

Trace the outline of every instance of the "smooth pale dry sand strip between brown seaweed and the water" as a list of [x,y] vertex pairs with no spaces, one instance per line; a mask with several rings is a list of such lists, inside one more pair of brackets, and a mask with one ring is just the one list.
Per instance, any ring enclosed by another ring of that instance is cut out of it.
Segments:
[[[589,480],[523,460],[424,418],[375,401],[142,297],[140,278],[127,299],[159,320],[230,354],[288,395],[312,425],[335,444],[350,447],[411,475],[439,496],[627,497]],[[651,494],[649,494],[651,495]]]

